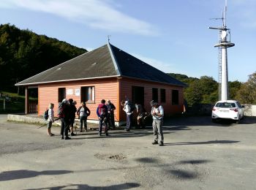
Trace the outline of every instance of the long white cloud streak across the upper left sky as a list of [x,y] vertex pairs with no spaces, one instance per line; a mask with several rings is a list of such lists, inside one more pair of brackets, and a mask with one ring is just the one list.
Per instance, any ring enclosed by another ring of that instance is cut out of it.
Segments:
[[143,36],[159,34],[157,28],[151,23],[118,11],[117,8],[121,5],[114,4],[113,0],[1,0],[0,7],[48,12],[84,23],[91,28],[107,31]]

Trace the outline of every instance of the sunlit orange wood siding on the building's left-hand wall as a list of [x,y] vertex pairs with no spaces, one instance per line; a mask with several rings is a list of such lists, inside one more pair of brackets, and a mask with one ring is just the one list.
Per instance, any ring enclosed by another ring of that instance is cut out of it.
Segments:
[[[80,96],[75,96],[75,89],[80,89],[84,86],[94,86],[95,87],[95,102],[87,103],[86,106],[91,110],[91,115],[89,119],[97,120],[97,106],[102,99],[110,99],[110,101],[116,106],[118,104],[117,94],[117,79],[104,79],[104,80],[87,80],[87,81],[76,81],[76,82],[66,82],[66,83],[52,83],[44,84],[38,86],[39,91],[39,115],[43,115],[48,104],[51,102],[54,106],[54,115],[57,116],[58,113],[58,98],[59,98],[59,88],[66,88],[66,99],[73,99],[78,102],[76,107],[80,107]],[[73,94],[67,95],[67,90],[72,89]]]

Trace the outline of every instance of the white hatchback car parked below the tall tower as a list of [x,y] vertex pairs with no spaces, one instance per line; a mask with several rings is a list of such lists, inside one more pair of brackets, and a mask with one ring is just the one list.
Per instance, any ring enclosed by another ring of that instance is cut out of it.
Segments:
[[233,119],[237,123],[244,117],[244,106],[236,100],[225,100],[217,102],[212,108],[211,119]]

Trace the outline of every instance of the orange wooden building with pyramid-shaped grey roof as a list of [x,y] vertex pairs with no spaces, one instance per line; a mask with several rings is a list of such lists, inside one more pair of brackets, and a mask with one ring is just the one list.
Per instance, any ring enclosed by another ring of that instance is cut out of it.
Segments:
[[[129,53],[108,43],[88,53],[72,58],[15,86],[26,88],[26,113],[29,113],[29,88],[38,88],[38,115],[43,115],[51,102],[62,99],[86,101],[91,110],[89,120],[97,121],[96,109],[101,99],[110,99],[116,105],[117,124],[126,121],[120,102],[127,96],[132,102],[144,104],[154,99],[165,108],[165,115],[182,113],[184,83],[140,61]],[[56,115],[56,114],[55,114]]]

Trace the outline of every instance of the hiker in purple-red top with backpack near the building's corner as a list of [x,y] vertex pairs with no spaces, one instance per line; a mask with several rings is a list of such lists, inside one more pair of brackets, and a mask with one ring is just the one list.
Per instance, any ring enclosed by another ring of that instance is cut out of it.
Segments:
[[102,126],[104,126],[105,135],[108,136],[108,107],[105,105],[105,99],[102,99],[101,103],[97,107],[97,116],[99,118],[99,136],[102,135]]

